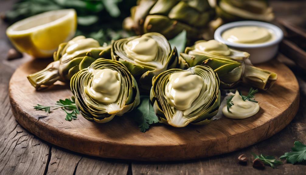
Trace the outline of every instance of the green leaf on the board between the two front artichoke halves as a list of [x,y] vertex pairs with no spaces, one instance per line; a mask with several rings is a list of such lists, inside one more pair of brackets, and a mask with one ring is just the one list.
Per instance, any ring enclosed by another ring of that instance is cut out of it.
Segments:
[[159,122],[148,96],[140,96],[140,104],[127,114],[136,121],[141,132],[146,132],[151,124]]

